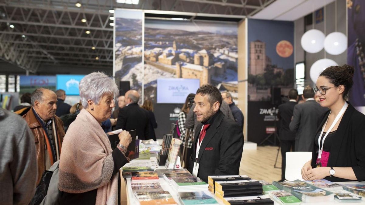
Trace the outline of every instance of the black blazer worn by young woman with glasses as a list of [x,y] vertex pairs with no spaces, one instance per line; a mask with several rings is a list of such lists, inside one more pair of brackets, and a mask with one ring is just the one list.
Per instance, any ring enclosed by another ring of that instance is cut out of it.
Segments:
[[[347,102],[349,103],[349,102]],[[322,115],[317,132],[322,130],[330,111]],[[365,180],[365,115],[357,111],[350,103],[342,116],[335,133],[328,158],[328,167],[352,167],[357,181]],[[324,141],[326,143],[326,141]],[[312,152],[312,167],[318,156],[318,147]],[[336,171],[336,170],[335,170]],[[353,181],[338,177],[326,177],[331,182]]]

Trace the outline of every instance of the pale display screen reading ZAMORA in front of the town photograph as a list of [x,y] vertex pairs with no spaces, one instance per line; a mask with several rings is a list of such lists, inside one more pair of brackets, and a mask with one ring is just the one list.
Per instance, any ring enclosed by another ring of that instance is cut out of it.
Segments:
[[200,87],[199,79],[159,78],[157,79],[157,103],[185,103],[190,93]]

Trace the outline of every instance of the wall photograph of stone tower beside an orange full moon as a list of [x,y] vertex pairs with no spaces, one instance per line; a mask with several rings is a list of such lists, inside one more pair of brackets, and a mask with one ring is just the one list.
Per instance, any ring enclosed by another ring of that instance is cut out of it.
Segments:
[[294,24],[249,19],[248,101],[270,101],[271,89],[287,96],[294,86]]

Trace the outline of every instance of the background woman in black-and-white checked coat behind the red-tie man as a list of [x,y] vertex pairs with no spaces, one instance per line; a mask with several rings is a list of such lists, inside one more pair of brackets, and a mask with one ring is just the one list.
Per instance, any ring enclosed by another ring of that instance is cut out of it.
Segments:
[[[185,149],[184,155],[186,157],[184,157],[184,162],[185,162],[185,167],[189,165],[189,157],[192,154],[192,145],[193,145],[193,139],[194,139],[194,131],[193,129],[187,129],[185,127],[185,122],[186,122],[186,115],[189,113],[191,105],[194,102],[194,97],[195,94],[190,93],[188,95],[188,97],[185,100],[185,103],[183,105],[183,108],[181,108],[181,112],[179,113],[178,116],[178,120],[177,120],[177,126],[178,126],[178,131],[180,132],[180,139],[182,140],[181,143],[181,148]],[[186,135],[188,136],[188,143],[186,144],[185,142],[185,137]],[[181,149],[181,154],[183,153],[183,149]]]

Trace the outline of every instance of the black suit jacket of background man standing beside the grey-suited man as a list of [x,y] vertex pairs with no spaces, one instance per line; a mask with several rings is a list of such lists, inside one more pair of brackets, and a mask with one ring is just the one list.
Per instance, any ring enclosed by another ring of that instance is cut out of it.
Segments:
[[295,140],[295,133],[290,131],[289,123],[292,121],[293,110],[296,102],[286,102],[279,105],[277,114],[280,119],[279,138],[281,140]]

